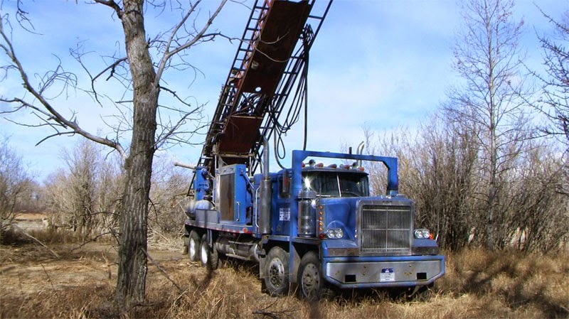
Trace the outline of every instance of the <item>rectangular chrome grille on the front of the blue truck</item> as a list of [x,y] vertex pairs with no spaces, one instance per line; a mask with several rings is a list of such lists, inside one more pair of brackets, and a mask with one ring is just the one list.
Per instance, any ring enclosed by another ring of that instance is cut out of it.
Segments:
[[361,205],[361,254],[411,254],[413,210],[400,205]]

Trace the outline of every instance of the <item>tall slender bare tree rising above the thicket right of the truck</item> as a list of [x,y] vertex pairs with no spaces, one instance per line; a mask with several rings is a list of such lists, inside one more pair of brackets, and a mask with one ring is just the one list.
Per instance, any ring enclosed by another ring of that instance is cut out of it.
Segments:
[[[506,172],[531,133],[525,126],[521,54],[518,39],[523,21],[512,21],[512,0],[467,1],[464,30],[454,47],[454,68],[464,80],[448,94],[446,116],[467,125],[479,149],[481,183],[476,194],[484,216],[486,246],[504,244],[497,225],[506,217]],[[482,225],[479,225],[482,226]]]

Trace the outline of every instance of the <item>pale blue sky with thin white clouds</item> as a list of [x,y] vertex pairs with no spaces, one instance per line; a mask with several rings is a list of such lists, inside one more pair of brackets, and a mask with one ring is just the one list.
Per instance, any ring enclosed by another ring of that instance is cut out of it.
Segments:
[[[320,1],[322,2],[322,1]],[[218,1],[206,0],[201,18]],[[246,1],[245,4],[251,4]],[[319,1],[317,1],[317,4]],[[15,1],[4,1],[2,14],[14,9]],[[536,9],[536,4],[555,18],[569,10],[569,1],[516,1],[516,20],[523,18],[525,33],[521,45],[528,51],[528,64],[539,67],[541,51],[536,32],[551,32],[551,25]],[[42,74],[60,57],[68,70],[78,65],[69,57],[69,48],[84,43],[93,51],[90,62],[102,65],[101,54],[122,50],[121,25],[110,9],[79,1],[37,0],[26,3],[26,11],[37,33],[14,31],[14,45],[31,74]],[[213,29],[239,37],[249,9],[229,4],[218,17]],[[147,16],[147,32],[170,28],[175,17],[166,13]],[[336,0],[311,51],[309,70],[309,149],[341,151],[344,144],[357,146],[363,140],[364,125],[374,131],[390,131],[405,126],[414,129],[435,112],[445,99],[445,90],[457,81],[451,69],[454,34],[460,28],[459,1],[454,0]],[[31,44],[33,43],[33,44]],[[189,57],[201,73],[191,71],[166,75],[176,92],[185,92],[196,104],[205,104],[207,120],[216,107],[220,87],[225,82],[236,50],[236,42],[216,40],[192,48]],[[6,58],[1,56],[4,64]],[[79,78],[85,81],[84,77]],[[0,94],[18,92],[20,82],[9,78],[0,82]],[[115,87],[103,82],[102,90]],[[78,121],[94,133],[110,134],[101,117],[110,119],[115,109],[101,108],[80,92],[68,92],[58,99],[61,112],[76,112]],[[6,105],[0,105],[2,109]],[[14,114],[15,121],[33,123],[28,112]],[[285,139],[287,150],[302,147],[302,122],[297,123]],[[0,122],[0,135],[10,136],[11,146],[23,156],[38,180],[63,167],[59,154],[71,148],[77,137],[56,137],[34,146],[48,129],[30,129]],[[191,142],[201,143],[202,136]],[[123,144],[127,144],[127,139]],[[160,152],[171,160],[195,163],[201,146],[184,146]],[[287,162],[285,162],[287,163]]]

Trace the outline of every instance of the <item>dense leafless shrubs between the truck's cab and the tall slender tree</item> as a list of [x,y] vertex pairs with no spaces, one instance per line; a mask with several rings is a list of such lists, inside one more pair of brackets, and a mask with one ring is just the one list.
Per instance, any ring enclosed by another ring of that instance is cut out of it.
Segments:
[[[428,227],[441,247],[459,250],[469,242],[473,225],[478,151],[472,132],[433,115],[417,133],[398,129],[373,141],[366,133],[367,151],[399,158],[400,192],[415,200],[416,225]],[[369,166],[373,188],[385,189],[381,166]],[[381,193],[381,192],[380,192]]]

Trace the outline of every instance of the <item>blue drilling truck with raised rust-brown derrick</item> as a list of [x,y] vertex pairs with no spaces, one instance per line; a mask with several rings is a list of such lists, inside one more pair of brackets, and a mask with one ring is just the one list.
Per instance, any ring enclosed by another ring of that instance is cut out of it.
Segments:
[[[280,163],[280,136],[307,107],[308,52],[331,6],[319,2],[252,7],[201,158],[186,166],[194,172],[184,222],[189,258],[209,269],[220,256],[256,261],[273,296],[418,291],[445,274],[445,256],[428,229],[415,227],[413,200],[398,193],[397,158],[297,150],[291,166]],[[366,166],[378,165],[387,176],[376,195],[369,174],[377,170]]]

